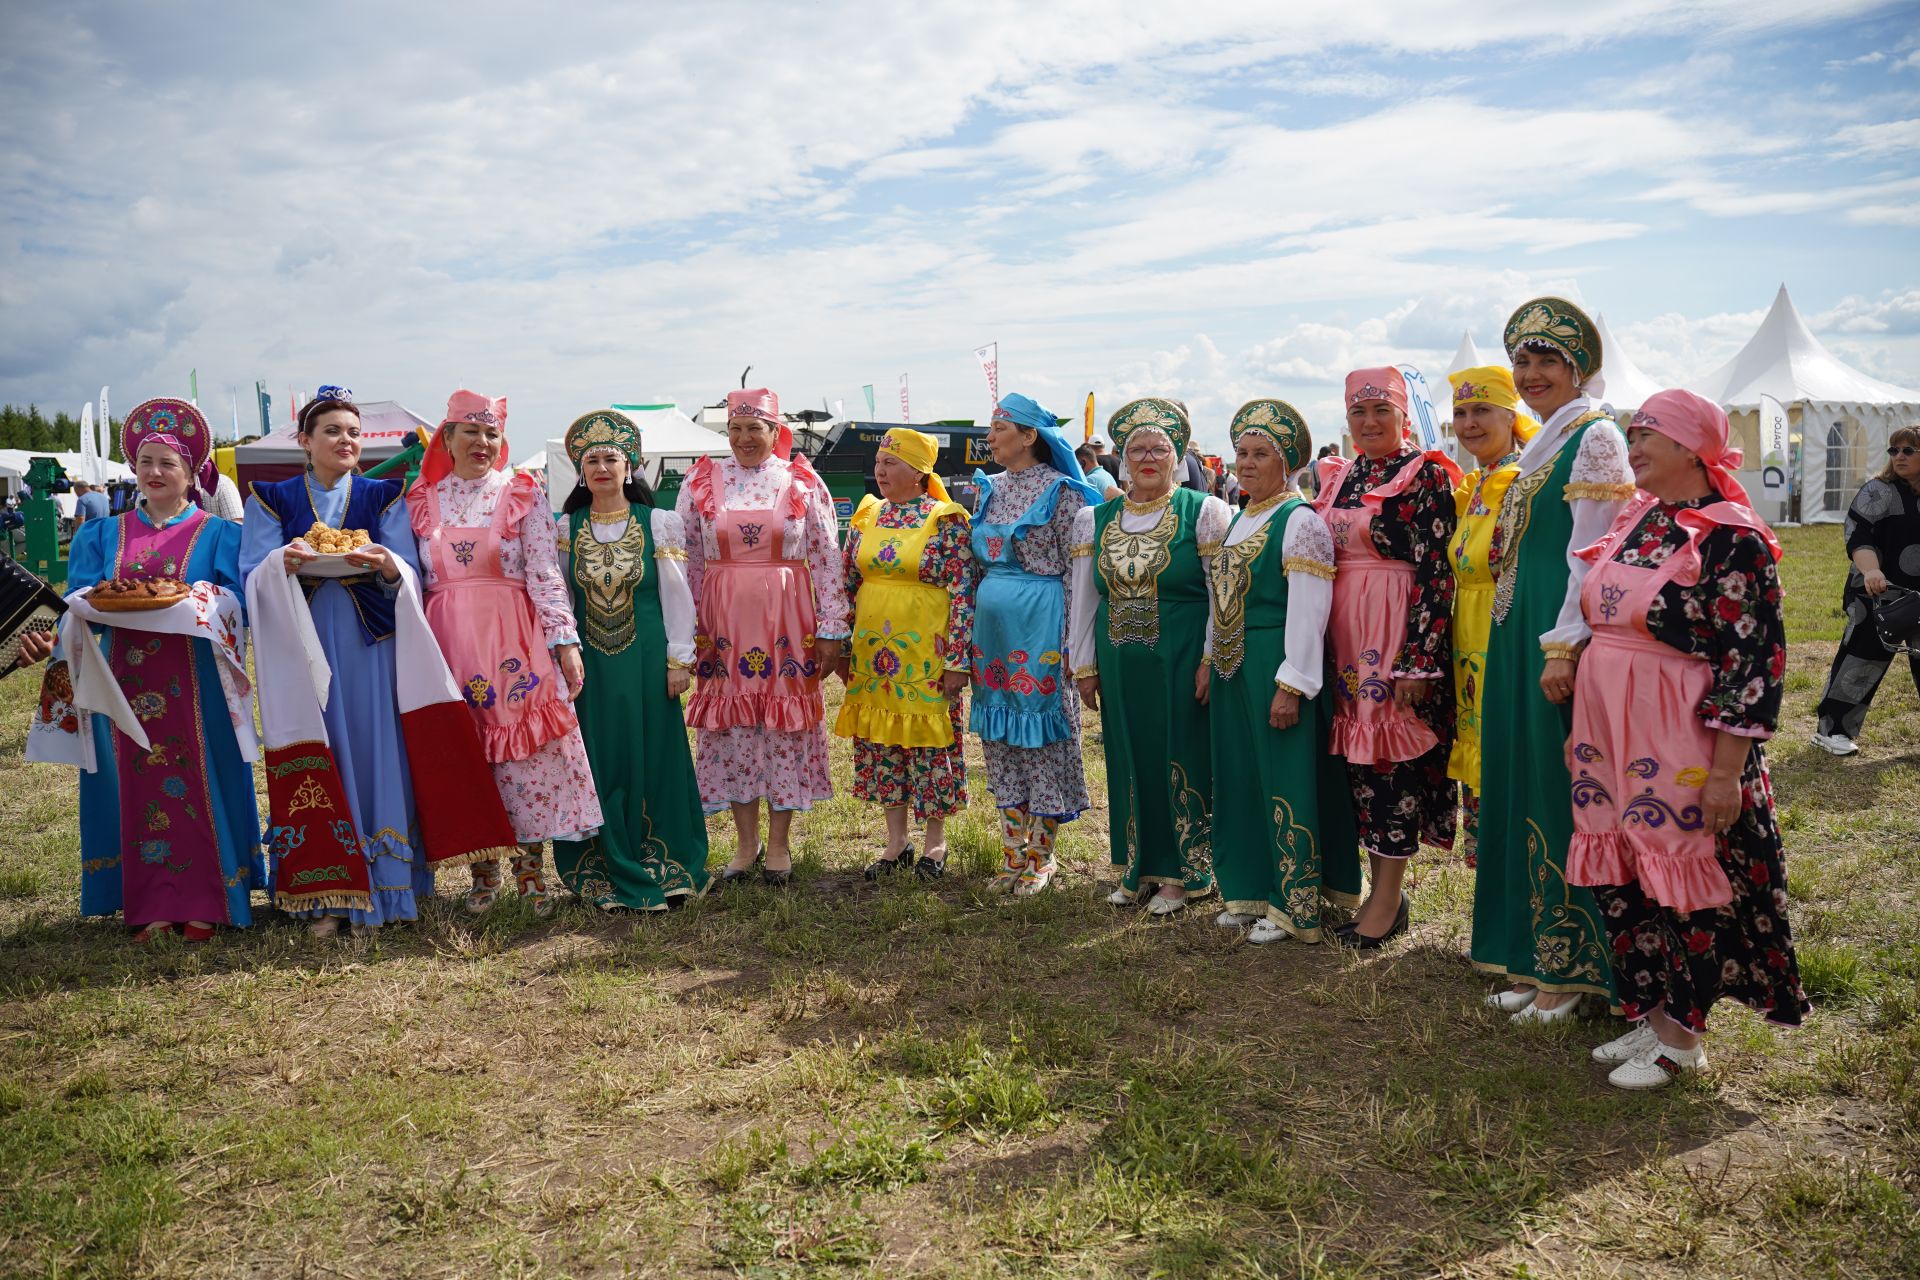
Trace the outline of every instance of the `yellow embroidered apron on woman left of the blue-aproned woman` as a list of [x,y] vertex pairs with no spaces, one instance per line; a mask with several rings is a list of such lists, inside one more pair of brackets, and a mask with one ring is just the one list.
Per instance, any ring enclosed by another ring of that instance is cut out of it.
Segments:
[[920,581],[920,560],[947,516],[966,518],[956,503],[935,503],[920,528],[883,530],[881,503],[868,501],[852,516],[860,530],[854,564],[860,591],[852,606],[852,664],[847,700],[833,733],[889,747],[952,747],[941,676],[947,662],[937,641],[952,604],[947,587]]

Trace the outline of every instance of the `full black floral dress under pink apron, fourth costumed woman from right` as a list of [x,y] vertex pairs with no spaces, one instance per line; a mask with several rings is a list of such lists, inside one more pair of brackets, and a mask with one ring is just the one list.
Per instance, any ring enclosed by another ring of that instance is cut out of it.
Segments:
[[[1359,507],[1411,457],[1411,449],[1384,459],[1359,455],[1332,505]],[[1453,750],[1453,564],[1448,543],[1457,520],[1453,478],[1438,462],[1427,462],[1413,484],[1380,503],[1371,524],[1375,551],[1413,566],[1407,629],[1392,676],[1427,679],[1430,689],[1417,714],[1440,739],[1415,760],[1346,766],[1359,842],[1388,858],[1411,858],[1421,841],[1453,848],[1455,794],[1446,773]]]

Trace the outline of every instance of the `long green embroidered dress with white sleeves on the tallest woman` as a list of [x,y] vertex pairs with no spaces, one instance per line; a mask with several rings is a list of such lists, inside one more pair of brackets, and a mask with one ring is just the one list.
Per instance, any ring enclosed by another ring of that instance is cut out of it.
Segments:
[[[1486,973],[1611,1002],[1613,967],[1599,908],[1592,890],[1567,883],[1572,783],[1565,747],[1572,704],[1555,706],[1540,691],[1548,662],[1542,637],[1563,624],[1569,595],[1569,545],[1590,541],[1582,533],[1592,526],[1605,532],[1632,495],[1619,428],[1590,401],[1584,405],[1563,426],[1549,418],[1540,432],[1559,441],[1549,462],[1528,466],[1530,455],[1553,449],[1540,438],[1521,455],[1523,474],[1507,487],[1488,551],[1496,585],[1480,706],[1488,727],[1480,743],[1471,950],[1475,967]],[[1586,505],[1578,530],[1576,505]],[[1584,631],[1578,620],[1574,628]]]

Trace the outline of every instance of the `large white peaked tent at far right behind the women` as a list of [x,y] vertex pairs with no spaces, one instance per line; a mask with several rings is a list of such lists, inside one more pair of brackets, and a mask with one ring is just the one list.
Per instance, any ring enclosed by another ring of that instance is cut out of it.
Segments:
[[[1749,462],[1761,455],[1761,395],[1786,407],[1799,451],[1791,487],[1799,497],[1797,518],[1807,524],[1845,518],[1855,491],[1880,470],[1887,434],[1920,424],[1920,391],[1841,363],[1801,320],[1784,284],[1740,355],[1690,386],[1726,409],[1734,443],[1745,449]],[[1759,470],[1740,472],[1740,484],[1768,520],[1793,518],[1791,501],[1761,497]]]

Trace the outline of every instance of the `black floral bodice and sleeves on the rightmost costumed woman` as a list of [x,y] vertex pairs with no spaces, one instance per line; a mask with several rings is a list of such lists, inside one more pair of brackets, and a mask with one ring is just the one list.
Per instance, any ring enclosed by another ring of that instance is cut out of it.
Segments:
[[[1613,555],[1617,564],[1657,568],[1686,545],[1674,516],[1715,499],[1657,503]],[[1780,614],[1780,574],[1766,543],[1749,530],[1715,526],[1699,539],[1699,583],[1661,587],[1647,606],[1647,633],[1713,664],[1713,687],[1693,712],[1713,729],[1772,737],[1780,722],[1788,631]]]

